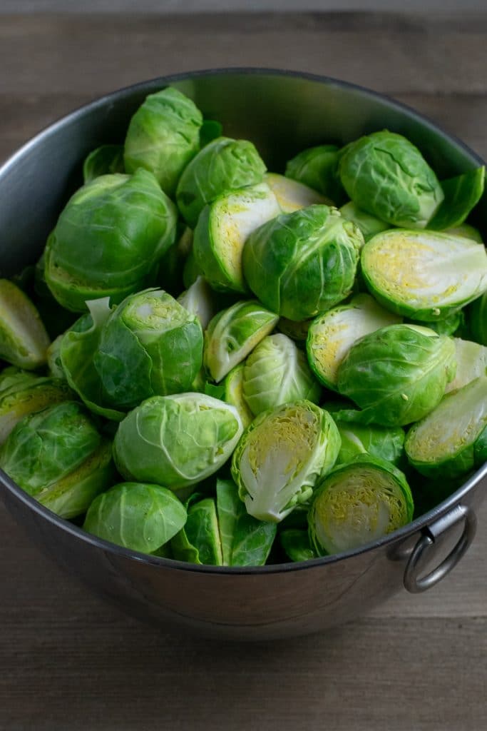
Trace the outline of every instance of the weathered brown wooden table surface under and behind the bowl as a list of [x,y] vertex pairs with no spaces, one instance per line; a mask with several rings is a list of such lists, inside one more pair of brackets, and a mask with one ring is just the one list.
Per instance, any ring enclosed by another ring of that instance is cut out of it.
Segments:
[[[0,16],[0,159],[104,92],[222,66],[375,88],[487,158],[487,15]],[[155,632],[87,594],[0,507],[0,729],[483,731],[487,501],[440,586],[261,645]]]

